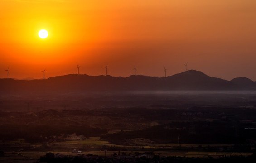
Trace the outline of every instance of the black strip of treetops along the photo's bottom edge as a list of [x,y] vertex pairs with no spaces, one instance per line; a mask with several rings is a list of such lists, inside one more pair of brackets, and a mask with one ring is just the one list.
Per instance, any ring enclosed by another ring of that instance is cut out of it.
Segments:
[[255,163],[255,153],[251,156],[222,156],[214,159],[207,158],[194,158],[194,157],[165,157],[155,155],[154,153],[135,153],[127,155],[126,153],[114,153],[110,157],[103,157],[98,155],[62,155],[54,153],[46,153],[45,156],[40,157],[40,162],[47,163]]

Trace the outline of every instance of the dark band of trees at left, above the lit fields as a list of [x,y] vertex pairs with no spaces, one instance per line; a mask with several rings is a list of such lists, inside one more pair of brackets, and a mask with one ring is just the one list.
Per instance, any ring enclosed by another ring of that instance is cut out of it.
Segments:
[[76,133],[90,137],[100,136],[106,132],[106,129],[76,125],[0,125],[0,139],[4,141],[25,139],[26,142],[47,142],[60,134]]

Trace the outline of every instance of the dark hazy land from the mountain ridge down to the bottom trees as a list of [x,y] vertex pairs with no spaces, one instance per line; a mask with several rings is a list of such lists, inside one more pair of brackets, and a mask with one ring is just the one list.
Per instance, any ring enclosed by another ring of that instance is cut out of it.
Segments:
[[0,79],[0,151],[5,157],[24,149],[251,155],[255,109],[256,82],[246,77],[227,81],[195,70],[171,77]]

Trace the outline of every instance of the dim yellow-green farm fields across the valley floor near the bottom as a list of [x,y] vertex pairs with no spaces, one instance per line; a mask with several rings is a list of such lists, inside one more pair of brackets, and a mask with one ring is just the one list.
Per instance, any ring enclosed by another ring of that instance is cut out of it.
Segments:
[[[99,156],[105,156],[105,150],[101,149],[103,145],[106,146],[115,146],[118,149],[125,149],[127,154],[134,154],[135,152],[153,152],[158,155],[162,156],[176,156],[176,157],[208,157],[211,156],[213,158],[219,158],[223,155],[228,156],[250,156],[252,152],[205,152],[205,151],[175,151],[173,147],[177,146],[177,144],[155,144],[152,146],[126,146],[126,145],[116,145],[111,144],[108,141],[101,141],[99,140],[100,137],[90,137],[86,140],[74,140],[74,141],[65,141],[65,142],[57,142],[57,143],[48,143],[47,147],[44,149],[42,148],[43,143],[40,144],[30,144],[32,149],[24,149],[21,151],[17,151],[15,154],[13,151],[7,151],[0,157],[1,163],[36,163],[39,161],[40,156],[44,156],[46,153],[51,152],[54,154],[60,153],[63,155],[78,155],[78,154],[94,154]],[[27,143],[23,142],[20,143],[22,140],[10,142],[11,149],[19,149],[28,145]],[[90,145],[92,150],[90,151],[82,151],[82,153],[72,153],[72,149],[81,149],[83,145]],[[202,146],[202,144],[179,144],[181,147],[198,147]],[[214,147],[232,147],[232,144],[204,144],[204,146],[214,146]],[[63,147],[63,148],[61,148]],[[203,146],[202,146],[203,147]],[[155,150],[154,150],[155,149]],[[111,156],[113,153],[118,153],[118,150],[114,151],[106,151],[106,156]],[[30,160],[29,158],[32,158]]]

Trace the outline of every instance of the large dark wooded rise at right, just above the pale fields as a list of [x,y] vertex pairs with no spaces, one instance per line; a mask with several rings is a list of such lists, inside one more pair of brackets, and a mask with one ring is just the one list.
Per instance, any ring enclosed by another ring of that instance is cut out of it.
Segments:
[[174,122],[142,130],[121,131],[101,135],[115,144],[126,144],[126,139],[145,138],[155,143],[235,144],[256,139],[255,129],[244,129],[240,124],[227,122]]

